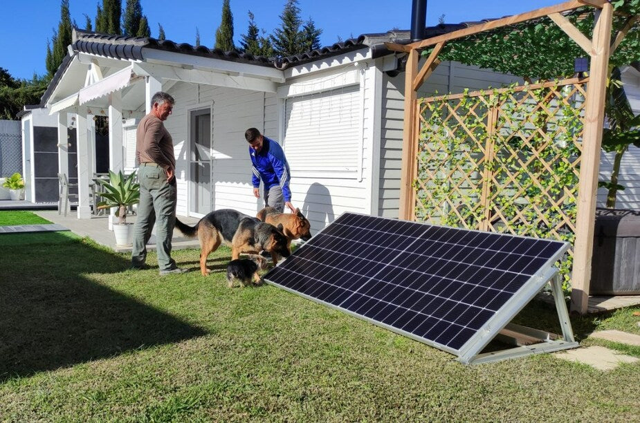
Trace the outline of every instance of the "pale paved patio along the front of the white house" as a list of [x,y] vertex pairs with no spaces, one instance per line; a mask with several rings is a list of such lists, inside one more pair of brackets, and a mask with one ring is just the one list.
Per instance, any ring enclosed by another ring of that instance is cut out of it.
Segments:
[[[90,219],[79,219],[75,212],[63,216],[57,210],[33,210],[35,214],[49,220],[52,223],[62,225],[74,234],[89,236],[98,244],[110,247],[116,252],[131,252],[131,247],[121,247],[116,245],[116,236],[108,229],[107,216],[92,216]],[[188,225],[194,225],[198,218],[178,216],[180,220]],[[127,216],[127,222],[134,223],[136,216]],[[155,228],[154,228],[155,234]],[[197,238],[185,238],[178,230],[174,230],[173,250],[183,250],[185,248],[199,248],[200,243]],[[156,236],[152,235],[147,250],[156,249]]]

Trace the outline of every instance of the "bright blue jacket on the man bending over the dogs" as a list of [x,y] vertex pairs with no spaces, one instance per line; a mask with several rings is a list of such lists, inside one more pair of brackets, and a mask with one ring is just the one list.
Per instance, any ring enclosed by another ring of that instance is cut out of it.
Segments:
[[249,147],[249,154],[253,163],[253,187],[259,187],[261,179],[265,189],[280,185],[284,201],[291,201],[289,163],[286,162],[280,144],[271,138],[264,137],[260,152],[256,154],[255,150]]

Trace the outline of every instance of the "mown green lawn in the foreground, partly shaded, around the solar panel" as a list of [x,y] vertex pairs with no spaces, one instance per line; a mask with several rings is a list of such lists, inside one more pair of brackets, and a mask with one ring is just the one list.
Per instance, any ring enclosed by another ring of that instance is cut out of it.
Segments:
[[[464,366],[270,285],[229,289],[224,248],[203,278],[197,250],[174,252],[192,272],[160,277],[62,233],[0,247],[0,420],[640,420],[639,364]],[[640,333],[634,310],[573,319],[578,340],[619,347],[585,336]],[[560,330],[546,304],[519,320]]]

